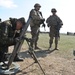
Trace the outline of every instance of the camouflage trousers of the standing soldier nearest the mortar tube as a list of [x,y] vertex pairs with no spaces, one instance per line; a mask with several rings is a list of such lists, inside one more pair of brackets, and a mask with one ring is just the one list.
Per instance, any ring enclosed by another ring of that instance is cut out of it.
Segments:
[[32,35],[32,41],[31,41],[31,46],[37,46],[37,41],[39,39],[39,32],[40,29],[38,26],[32,26],[31,27],[31,35]]

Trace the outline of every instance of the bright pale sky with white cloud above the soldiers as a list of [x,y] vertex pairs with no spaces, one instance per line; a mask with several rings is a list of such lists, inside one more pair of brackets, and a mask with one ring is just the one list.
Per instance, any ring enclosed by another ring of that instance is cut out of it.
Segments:
[[[51,9],[56,8],[57,15],[63,21],[61,33],[75,32],[75,0],[0,0],[0,18],[4,21],[9,17],[24,17],[27,21],[29,12],[34,9],[35,3],[41,5],[40,11],[45,20],[52,15]],[[44,31],[44,28],[40,28],[40,31]],[[49,31],[48,27],[46,31]]]

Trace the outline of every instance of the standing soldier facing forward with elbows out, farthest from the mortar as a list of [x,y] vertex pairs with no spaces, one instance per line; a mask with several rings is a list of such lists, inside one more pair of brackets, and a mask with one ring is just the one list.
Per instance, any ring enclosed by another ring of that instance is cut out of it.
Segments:
[[49,36],[49,50],[52,48],[53,39],[55,37],[55,48],[54,50],[58,50],[58,39],[60,37],[59,30],[62,27],[62,20],[56,15],[57,10],[55,8],[51,9],[52,15],[50,15],[47,20],[47,26],[50,28]]

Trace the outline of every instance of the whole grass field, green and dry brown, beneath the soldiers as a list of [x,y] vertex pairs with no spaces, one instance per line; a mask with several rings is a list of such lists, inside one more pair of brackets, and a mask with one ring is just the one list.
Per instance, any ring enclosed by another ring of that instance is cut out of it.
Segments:
[[[31,37],[30,33],[27,33],[26,36]],[[49,35],[40,33],[38,46],[41,49],[35,50],[35,54],[46,75],[75,75],[75,56],[73,55],[75,36],[61,34],[59,50],[49,51]],[[21,66],[21,71],[17,75],[43,75],[37,64],[31,65],[33,60],[27,55],[27,50],[27,43],[24,42],[20,53],[25,60],[18,62]]]

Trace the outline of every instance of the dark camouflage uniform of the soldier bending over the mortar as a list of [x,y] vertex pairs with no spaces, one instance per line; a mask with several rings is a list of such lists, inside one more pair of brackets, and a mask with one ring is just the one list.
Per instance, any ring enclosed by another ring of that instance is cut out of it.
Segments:
[[[17,21],[17,19],[15,19]],[[16,30],[16,23],[13,21],[4,21],[0,23],[0,62],[7,60],[6,53],[9,46],[15,46],[16,38],[20,36],[21,30]],[[16,55],[17,57],[17,55]],[[15,57],[15,59],[16,59]]]

